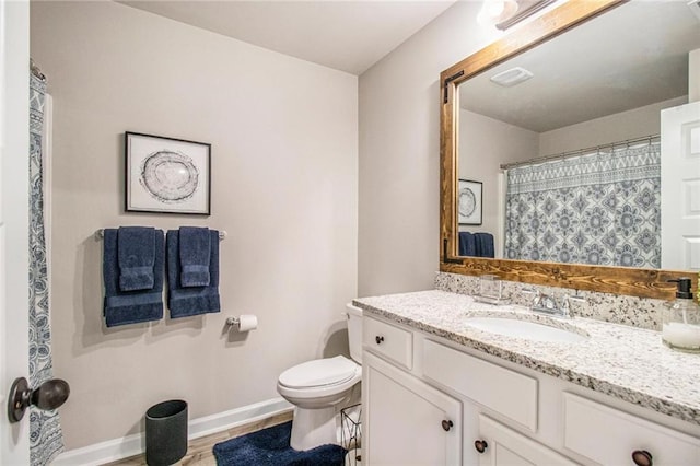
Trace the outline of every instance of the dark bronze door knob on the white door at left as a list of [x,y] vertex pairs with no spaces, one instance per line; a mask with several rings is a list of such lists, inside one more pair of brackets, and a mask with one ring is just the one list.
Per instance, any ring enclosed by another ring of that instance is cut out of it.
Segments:
[[19,422],[31,405],[47,411],[56,409],[68,399],[70,386],[60,378],[44,382],[38,388],[30,388],[24,377],[15,378],[8,397],[8,417],[10,422]]

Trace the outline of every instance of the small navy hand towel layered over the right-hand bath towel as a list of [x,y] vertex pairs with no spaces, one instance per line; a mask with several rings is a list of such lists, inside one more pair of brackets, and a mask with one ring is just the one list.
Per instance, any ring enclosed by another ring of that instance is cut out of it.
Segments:
[[[209,229],[180,226],[179,229],[179,284],[207,287],[211,280],[209,264],[211,254]],[[219,244],[219,237],[215,238]]]

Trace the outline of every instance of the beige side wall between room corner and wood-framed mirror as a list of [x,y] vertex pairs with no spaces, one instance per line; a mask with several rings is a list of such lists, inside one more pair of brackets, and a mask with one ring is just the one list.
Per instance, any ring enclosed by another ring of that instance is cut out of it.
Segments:
[[440,260],[440,72],[501,33],[457,2],[360,77],[361,296],[432,288]]

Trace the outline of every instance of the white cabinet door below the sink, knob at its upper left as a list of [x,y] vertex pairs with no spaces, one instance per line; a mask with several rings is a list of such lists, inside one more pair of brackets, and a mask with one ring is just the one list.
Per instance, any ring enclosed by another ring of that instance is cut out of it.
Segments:
[[[479,466],[573,466],[576,463],[545,445],[479,415],[479,434],[483,452]],[[475,445],[476,447],[477,445]]]

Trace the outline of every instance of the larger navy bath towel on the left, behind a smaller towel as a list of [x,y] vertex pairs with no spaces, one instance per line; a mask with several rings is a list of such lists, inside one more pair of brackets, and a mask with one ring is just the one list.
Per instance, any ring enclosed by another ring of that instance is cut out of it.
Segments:
[[104,232],[103,276],[104,315],[107,327],[163,318],[163,273],[165,247],[163,232],[155,230],[153,287],[150,290],[121,291],[119,287],[118,230]]

